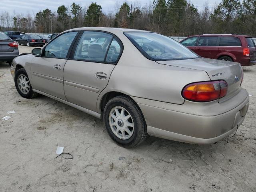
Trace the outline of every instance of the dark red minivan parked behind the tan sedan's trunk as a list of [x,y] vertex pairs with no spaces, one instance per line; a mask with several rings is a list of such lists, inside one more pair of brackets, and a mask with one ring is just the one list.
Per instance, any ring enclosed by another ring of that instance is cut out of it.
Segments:
[[256,64],[256,46],[251,36],[204,34],[190,36],[180,43],[205,58],[239,62],[242,66]]

